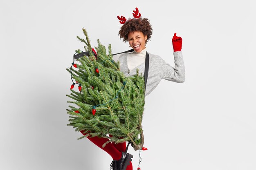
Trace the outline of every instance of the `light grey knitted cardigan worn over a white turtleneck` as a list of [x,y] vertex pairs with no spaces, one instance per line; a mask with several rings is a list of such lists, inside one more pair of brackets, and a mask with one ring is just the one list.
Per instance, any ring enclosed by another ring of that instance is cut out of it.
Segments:
[[[161,57],[154,54],[149,54],[149,68],[148,68],[148,80],[146,85],[146,93],[147,96],[151,93],[156,86],[159,84],[161,79],[166,79],[169,81],[183,83],[185,81],[185,68],[182,57],[182,52],[177,51],[174,52],[174,63],[175,67],[173,68],[170,64],[166,63]],[[142,73],[144,75],[145,70],[145,62],[141,63],[139,66],[133,68],[129,71],[127,66],[127,55],[128,53],[120,55],[117,61],[120,62],[120,71],[124,73],[124,75],[132,76],[136,75],[136,70],[139,68],[139,75]]]

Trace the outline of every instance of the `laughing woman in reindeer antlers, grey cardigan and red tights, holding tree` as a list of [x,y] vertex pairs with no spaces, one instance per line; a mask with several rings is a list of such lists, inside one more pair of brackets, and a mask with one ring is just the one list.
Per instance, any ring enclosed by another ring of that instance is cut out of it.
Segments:
[[[120,23],[123,24],[119,30],[120,38],[123,38],[124,42],[129,42],[129,46],[134,50],[132,53],[122,54],[118,59],[120,62],[120,71],[122,71],[126,76],[135,75],[137,68],[139,68],[139,73],[144,75],[145,57],[147,52],[146,43],[152,35],[152,27],[149,20],[146,18],[140,18],[140,13],[138,13],[137,8],[134,12],[134,18],[128,21],[126,21],[123,16],[118,16]],[[182,38],[177,37],[175,33],[172,42],[175,68],[166,63],[158,55],[148,53],[149,70],[145,96],[154,90],[161,79],[178,83],[184,82],[185,69],[181,52]],[[85,135],[84,131],[81,132]],[[109,139],[99,137],[88,137],[88,139],[101,149],[108,152],[113,159],[111,163],[111,168],[113,170],[132,170],[132,155],[127,153],[126,143],[108,143],[104,148],[102,148],[102,145]]]

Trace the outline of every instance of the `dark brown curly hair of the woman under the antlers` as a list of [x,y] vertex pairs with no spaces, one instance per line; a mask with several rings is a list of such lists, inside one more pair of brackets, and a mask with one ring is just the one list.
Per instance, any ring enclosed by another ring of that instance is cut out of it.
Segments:
[[146,40],[146,42],[148,42],[148,40],[151,38],[152,30],[152,26],[150,25],[147,18],[132,18],[126,21],[123,26],[121,26],[118,35],[120,35],[120,38],[123,38],[124,42],[128,42],[128,34],[130,32],[140,31],[145,36],[148,36]]

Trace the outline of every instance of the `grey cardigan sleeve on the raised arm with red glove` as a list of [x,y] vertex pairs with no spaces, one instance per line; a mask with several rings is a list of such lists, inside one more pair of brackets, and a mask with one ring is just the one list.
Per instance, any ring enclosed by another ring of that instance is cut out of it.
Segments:
[[181,51],[173,53],[175,67],[163,60],[161,76],[168,81],[183,83],[185,81],[185,67]]

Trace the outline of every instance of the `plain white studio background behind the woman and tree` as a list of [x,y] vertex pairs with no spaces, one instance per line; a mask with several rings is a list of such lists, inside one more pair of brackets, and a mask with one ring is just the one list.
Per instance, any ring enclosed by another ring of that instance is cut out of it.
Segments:
[[146,97],[141,170],[256,169],[254,0],[0,0],[1,170],[109,170],[111,157],[66,126],[65,68],[83,27],[92,46],[130,49],[117,15],[135,7],[153,26],[148,52],[174,66],[176,32],[186,68],[184,83],[163,79]]

